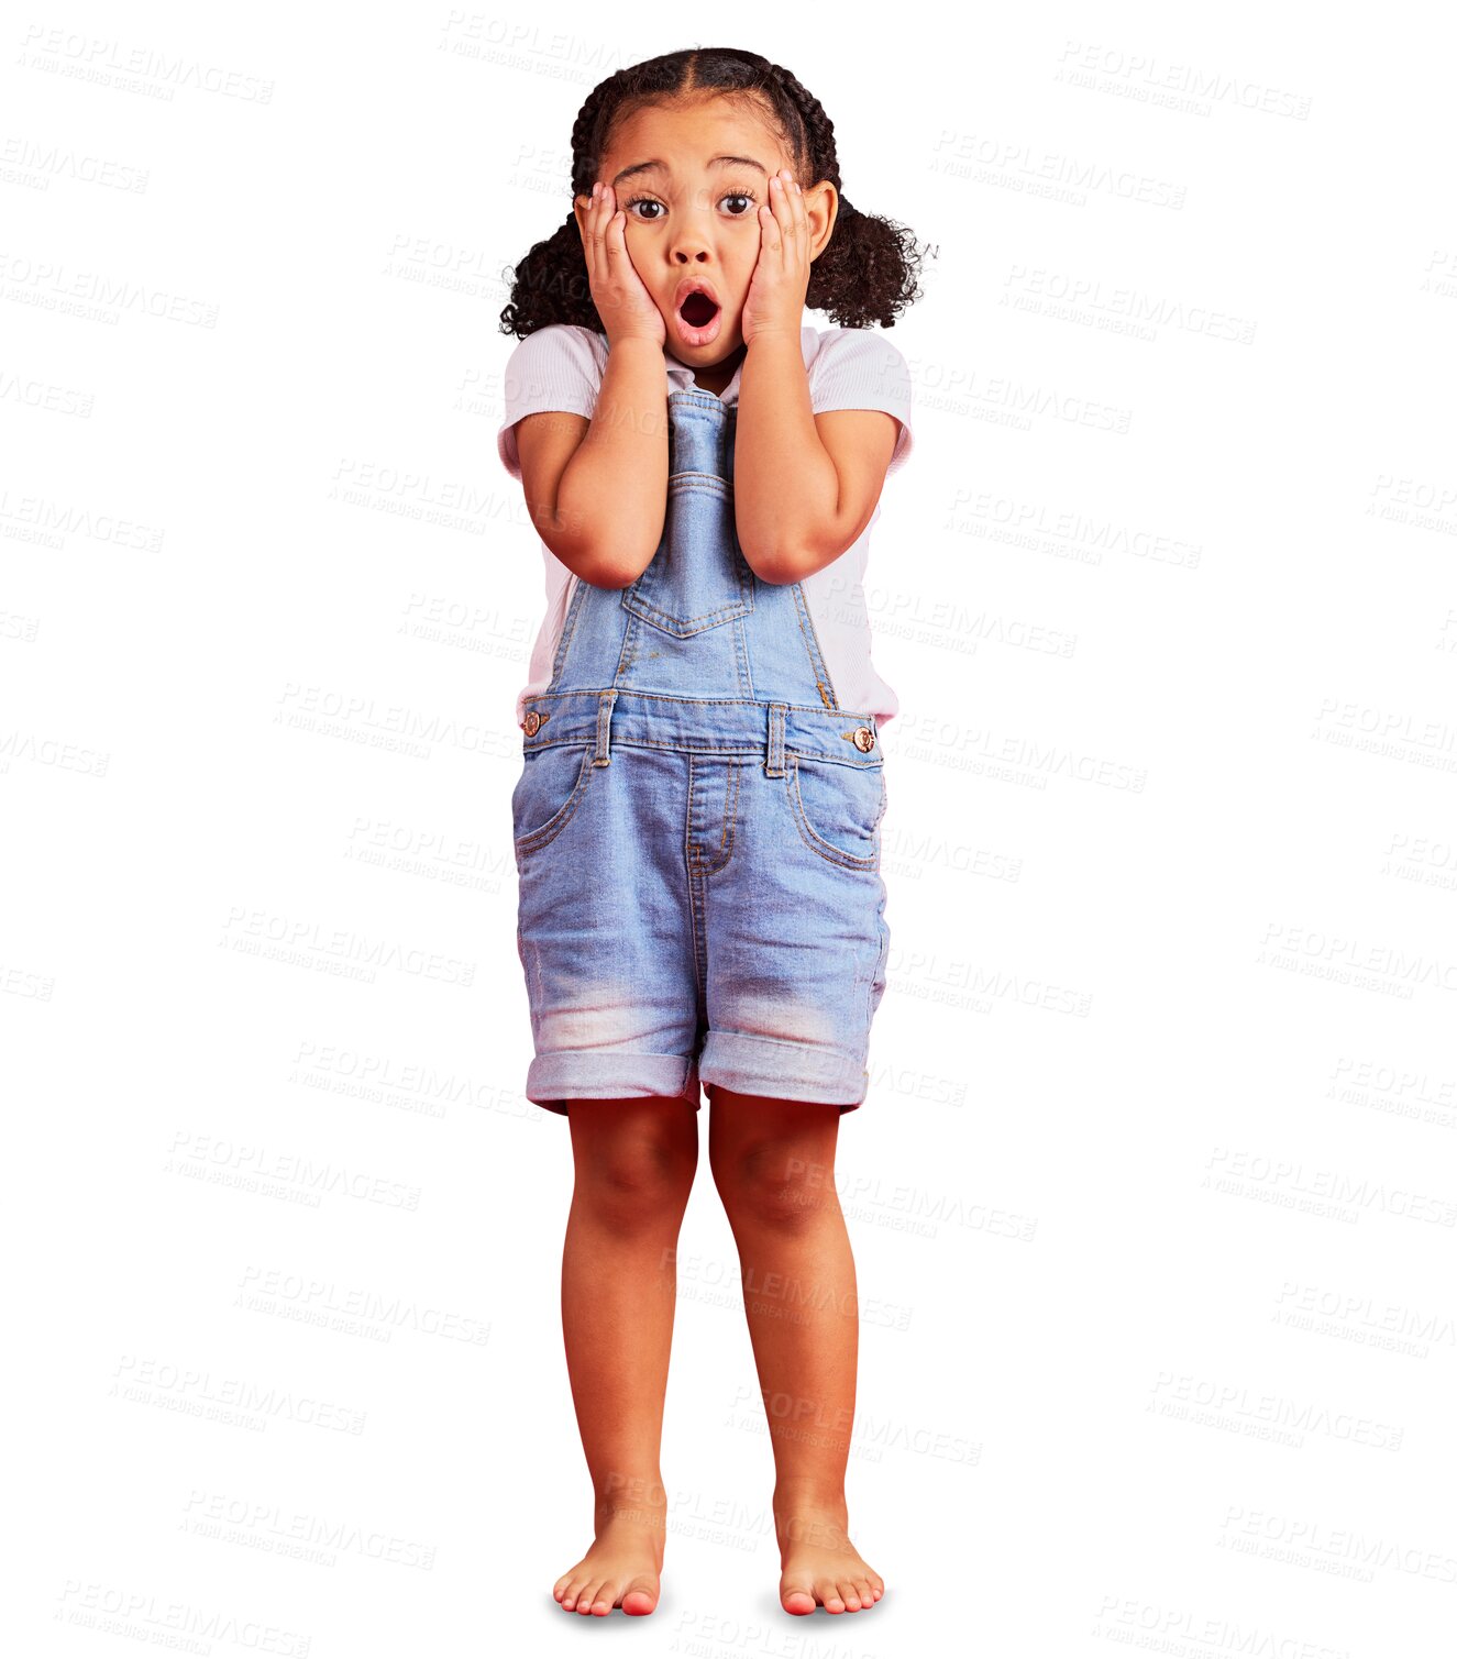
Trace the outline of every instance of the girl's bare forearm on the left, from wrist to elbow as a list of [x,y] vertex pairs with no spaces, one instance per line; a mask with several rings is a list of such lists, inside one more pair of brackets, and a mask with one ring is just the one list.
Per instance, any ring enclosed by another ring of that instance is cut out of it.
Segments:
[[[553,551],[596,587],[626,587],[647,569],[667,518],[667,382],[662,347],[619,340],[587,433],[556,489]],[[568,529],[571,526],[571,529]]]

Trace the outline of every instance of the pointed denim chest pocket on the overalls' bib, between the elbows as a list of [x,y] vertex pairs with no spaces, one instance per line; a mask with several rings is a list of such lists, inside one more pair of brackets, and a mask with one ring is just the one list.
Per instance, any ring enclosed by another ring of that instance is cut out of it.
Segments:
[[710,473],[679,473],[652,564],[622,591],[622,609],[687,639],[753,609],[753,571],[738,547],[733,493]]

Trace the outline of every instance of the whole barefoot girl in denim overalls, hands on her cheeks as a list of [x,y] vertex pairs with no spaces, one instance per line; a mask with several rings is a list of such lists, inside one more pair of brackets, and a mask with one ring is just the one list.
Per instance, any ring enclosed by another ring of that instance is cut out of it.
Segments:
[[[526,1097],[568,1118],[561,1299],[594,1541],[566,1611],[652,1613],[674,1246],[709,1161],[775,1460],[787,1613],[873,1608],[848,1536],[856,1284],[835,1191],[889,932],[881,728],[860,577],[911,382],[870,324],[911,234],[840,194],[788,70],[675,51],[573,128],[573,212],[516,267],[499,455],[548,614],[516,703]],[[806,305],[836,328],[805,327]],[[792,1314],[792,1317],[785,1317]],[[792,1402],[790,1408],[783,1402]]]

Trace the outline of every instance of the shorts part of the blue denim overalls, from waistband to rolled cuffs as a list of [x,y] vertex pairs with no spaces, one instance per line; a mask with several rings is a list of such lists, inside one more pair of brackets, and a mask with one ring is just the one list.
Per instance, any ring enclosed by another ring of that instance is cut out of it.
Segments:
[[511,796],[526,1098],[865,1100],[889,931],[871,715],[531,698]]

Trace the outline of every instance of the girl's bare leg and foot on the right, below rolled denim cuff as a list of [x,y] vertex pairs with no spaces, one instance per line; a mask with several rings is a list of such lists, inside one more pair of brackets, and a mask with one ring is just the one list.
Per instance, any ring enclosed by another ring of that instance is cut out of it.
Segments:
[[845,1467],[860,1314],[835,1191],[840,1108],[709,1085],[709,1160],[738,1244],[773,1445],[780,1603],[856,1613],[884,1579],[850,1541]]

